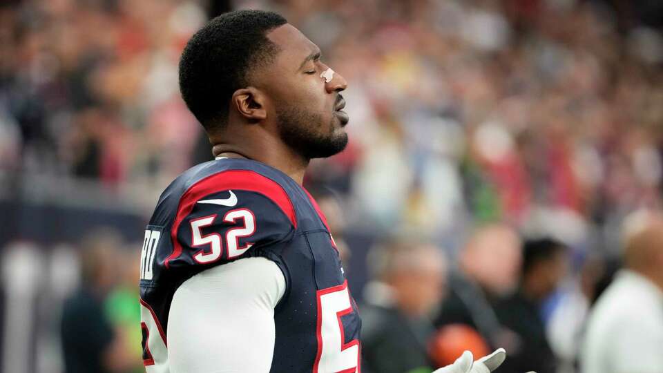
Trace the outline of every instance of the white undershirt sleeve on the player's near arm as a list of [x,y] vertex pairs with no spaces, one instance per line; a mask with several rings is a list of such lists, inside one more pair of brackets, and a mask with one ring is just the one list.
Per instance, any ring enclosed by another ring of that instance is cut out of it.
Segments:
[[285,293],[278,265],[245,258],[202,271],[175,291],[168,319],[171,373],[266,373],[274,307]]

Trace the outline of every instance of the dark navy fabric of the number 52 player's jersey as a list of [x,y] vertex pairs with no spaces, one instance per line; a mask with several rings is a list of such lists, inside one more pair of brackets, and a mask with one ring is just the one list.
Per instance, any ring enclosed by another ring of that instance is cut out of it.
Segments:
[[[212,187],[209,187],[210,180],[216,180]],[[253,182],[256,185],[261,185],[262,180],[262,184],[271,187],[263,193],[256,188],[242,189],[241,186],[246,183],[234,180],[257,180]],[[203,184],[207,187],[200,189],[204,191],[202,194],[192,193]],[[216,184],[220,187],[214,187]],[[285,196],[287,203],[284,198],[275,198],[277,190]],[[209,194],[204,194],[208,191]],[[230,191],[237,197],[235,206],[196,203],[200,200],[227,199]],[[292,213],[284,208],[288,204],[293,209]],[[253,213],[256,230],[251,236],[238,239],[240,247],[251,247],[241,256],[228,258],[223,238],[229,229],[243,227],[244,222],[239,219],[233,224],[222,218],[236,209],[248,209]],[[202,236],[218,233],[224,242],[223,254],[214,262],[201,264],[194,257],[201,252],[209,253],[210,245],[193,247],[191,221],[214,215],[213,223],[202,227],[201,233]],[[305,189],[270,166],[238,159],[220,159],[194,166],[166,188],[149,222],[148,229],[157,229],[162,234],[156,244],[151,279],[140,281],[142,303],[152,309],[167,340],[171,300],[184,281],[200,271],[240,258],[268,258],[281,269],[287,285],[274,315],[276,343],[270,372],[311,372],[319,347],[316,334],[320,313],[317,309],[318,293],[345,283],[338,251],[323,219]],[[351,303],[353,312],[340,316],[344,344],[358,340],[361,329],[361,320],[352,298]],[[143,347],[145,350],[145,341]]]

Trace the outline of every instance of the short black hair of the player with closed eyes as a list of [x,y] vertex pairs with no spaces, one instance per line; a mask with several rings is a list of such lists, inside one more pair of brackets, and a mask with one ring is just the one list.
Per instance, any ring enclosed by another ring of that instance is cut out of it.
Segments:
[[248,85],[251,68],[273,60],[279,49],[266,35],[285,23],[275,12],[236,10],[189,39],[180,58],[180,92],[208,133],[227,123],[230,98]]

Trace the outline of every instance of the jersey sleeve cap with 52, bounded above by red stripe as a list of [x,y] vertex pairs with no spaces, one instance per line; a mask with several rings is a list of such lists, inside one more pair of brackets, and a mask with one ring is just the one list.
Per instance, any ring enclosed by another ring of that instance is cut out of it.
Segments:
[[180,198],[164,265],[207,265],[251,256],[250,249],[291,238],[296,215],[286,191],[247,170],[215,173]]

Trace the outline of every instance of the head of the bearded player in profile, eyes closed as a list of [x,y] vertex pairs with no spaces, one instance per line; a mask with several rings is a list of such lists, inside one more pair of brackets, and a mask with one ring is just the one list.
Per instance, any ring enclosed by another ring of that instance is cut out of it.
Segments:
[[213,141],[276,136],[302,157],[327,157],[347,144],[347,115],[336,110],[346,82],[327,69],[319,48],[285,18],[239,10],[191,37],[180,90]]

